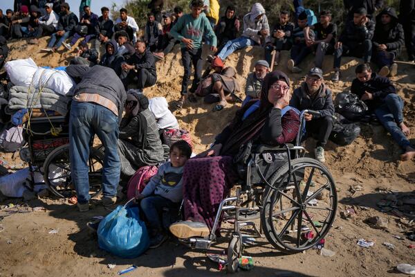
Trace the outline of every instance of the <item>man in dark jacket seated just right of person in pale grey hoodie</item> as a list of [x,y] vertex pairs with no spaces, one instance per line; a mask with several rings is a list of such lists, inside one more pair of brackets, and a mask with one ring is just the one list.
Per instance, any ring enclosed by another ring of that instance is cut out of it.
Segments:
[[290,12],[282,10],[279,12],[279,22],[275,24],[271,37],[265,47],[265,60],[271,64],[273,58],[271,53],[275,50],[274,64],[279,62],[279,52],[290,50],[293,46],[291,36],[293,35],[294,24],[290,22]]

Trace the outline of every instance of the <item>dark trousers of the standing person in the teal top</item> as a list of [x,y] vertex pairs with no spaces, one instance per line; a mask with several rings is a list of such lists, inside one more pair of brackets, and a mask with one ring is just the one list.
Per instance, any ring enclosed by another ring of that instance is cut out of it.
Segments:
[[189,87],[190,75],[192,75],[192,64],[194,67],[194,78],[192,82],[192,87],[190,88],[191,92],[196,90],[196,87],[199,84],[199,81],[201,80],[203,67],[202,48],[181,48],[181,53],[183,67],[185,68],[185,74],[183,75],[182,80],[181,95],[184,95],[187,93],[187,87]]

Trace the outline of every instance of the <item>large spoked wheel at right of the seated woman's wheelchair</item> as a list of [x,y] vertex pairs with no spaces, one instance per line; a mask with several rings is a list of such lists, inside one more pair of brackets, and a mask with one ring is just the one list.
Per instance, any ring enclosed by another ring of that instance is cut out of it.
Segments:
[[270,177],[261,222],[268,241],[286,253],[315,246],[335,219],[337,193],[329,170],[315,159],[299,158]]

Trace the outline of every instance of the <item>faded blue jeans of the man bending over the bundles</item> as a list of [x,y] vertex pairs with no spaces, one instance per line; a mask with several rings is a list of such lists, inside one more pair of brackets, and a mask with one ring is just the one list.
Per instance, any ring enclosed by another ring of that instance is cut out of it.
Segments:
[[117,152],[118,117],[106,107],[91,102],[72,101],[69,118],[69,156],[71,177],[80,204],[89,201],[88,161],[93,136],[104,145],[102,192],[104,197],[114,197],[120,182],[120,157]]

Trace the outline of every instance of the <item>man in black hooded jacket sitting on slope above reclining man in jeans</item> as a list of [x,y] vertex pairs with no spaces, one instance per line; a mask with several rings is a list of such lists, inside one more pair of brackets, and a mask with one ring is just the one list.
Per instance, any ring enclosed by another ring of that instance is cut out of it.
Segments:
[[392,77],[398,73],[398,64],[394,62],[405,43],[403,27],[398,23],[394,8],[385,8],[376,17],[373,39],[374,62],[379,66],[379,75]]

